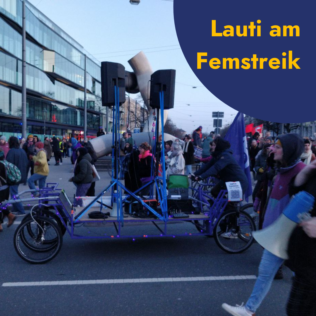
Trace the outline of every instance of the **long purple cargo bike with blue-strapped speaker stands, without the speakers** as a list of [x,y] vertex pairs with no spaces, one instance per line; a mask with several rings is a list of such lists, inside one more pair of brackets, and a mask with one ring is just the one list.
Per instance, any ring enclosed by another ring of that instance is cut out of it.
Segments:
[[[135,192],[129,191],[122,184],[119,178],[119,88],[116,85],[114,95],[111,182],[97,197],[74,197],[73,201],[64,190],[58,191],[58,194],[40,190],[41,202],[33,206],[30,214],[25,216],[15,231],[14,246],[19,256],[33,264],[52,260],[60,251],[63,235],[66,232],[71,239],[135,240],[151,237],[214,236],[218,246],[226,252],[245,251],[253,242],[252,232],[256,229],[255,223],[247,212],[241,210],[240,201],[234,203],[234,210],[225,211],[228,205],[227,191],[222,190],[216,198],[212,197],[209,192],[211,181],[207,183],[199,181],[197,185],[192,186],[190,200],[194,202],[195,207],[192,206],[192,209],[186,212],[188,214],[183,214],[181,210],[174,207],[177,201],[172,201],[172,208],[168,206],[171,201],[167,200],[164,148],[161,155],[161,173],[158,164],[153,166],[152,170],[156,169],[156,173],[152,174],[151,181]],[[160,107],[156,109],[157,122],[153,137],[156,161],[158,146],[156,150],[155,139],[159,135],[160,110],[163,122],[163,103],[161,87]],[[161,134],[164,135],[163,125]],[[149,197],[138,195],[147,186],[150,186],[151,191]],[[127,192],[126,196],[122,194],[124,191]],[[106,192],[110,192],[111,195],[105,196]],[[131,211],[132,203],[141,206],[148,216],[135,216]],[[188,225],[183,225],[183,230],[174,230],[179,225],[170,225],[188,223],[193,224],[192,230],[188,230]],[[133,231],[135,227],[147,229],[149,224],[155,228],[156,233],[150,230],[148,233],[131,234],[129,231],[131,227],[134,228]],[[84,234],[80,228],[82,226],[97,226],[99,232],[92,236],[89,230],[85,230]]]

